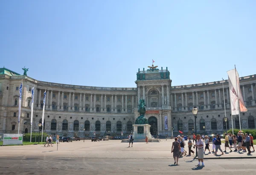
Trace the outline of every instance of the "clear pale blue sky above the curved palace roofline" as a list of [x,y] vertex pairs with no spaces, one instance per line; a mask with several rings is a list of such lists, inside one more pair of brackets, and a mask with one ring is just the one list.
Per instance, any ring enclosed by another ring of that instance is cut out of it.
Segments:
[[256,1],[0,1],[0,67],[37,80],[136,87],[168,66],[172,85],[256,74]]

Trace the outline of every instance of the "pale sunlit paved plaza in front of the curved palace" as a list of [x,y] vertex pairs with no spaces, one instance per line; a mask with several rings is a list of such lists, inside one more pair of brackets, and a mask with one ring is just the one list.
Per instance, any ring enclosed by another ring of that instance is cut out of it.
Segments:
[[[222,156],[205,155],[205,167],[196,168],[193,156],[179,159],[179,165],[172,165],[171,139],[160,143],[128,143],[121,141],[90,140],[60,143],[58,151],[44,145],[0,146],[0,174],[3,175],[155,175],[180,174],[233,175],[236,173],[256,174],[256,153],[247,156],[231,152]],[[209,159],[207,159],[209,158]],[[212,159],[215,158],[215,159]]]

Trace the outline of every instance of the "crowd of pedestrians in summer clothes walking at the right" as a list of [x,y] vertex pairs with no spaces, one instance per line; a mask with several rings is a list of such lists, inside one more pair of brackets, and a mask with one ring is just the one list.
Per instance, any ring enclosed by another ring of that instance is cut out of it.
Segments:
[[[248,155],[251,154],[251,152],[255,152],[254,146],[253,146],[253,136],[251,134],[244,134],[242,132],[239,132],[237,135],[232,135],[231,133],[225,133],[224,139],[225,139],[225,150],[223,151],[221,149],[221,137],[220,135],[213,135],[212,136],[212,152],[210,150],[210,142],[208,136],[204,135],[195,135],[193,134],[193,142],[190,137],[188,137],[188,149],[189,153],[188,155],[191,155],[195,153],[195,151],[192,150],[192,147],[195,149],[197,147],[198,149],[198,164],[196,166],[204,167],[204,155],[213,153],[214,155],[217,155],[218,150],[221,152],[221,155],[224,155],[224,152],[227,152],[227,148],[230,149],[230,152],[247,152]],[[195,143],[195,144],[194,144]],[[174,158],[174,164],[178,165],[178,160],[183,155],[187,155],[187,151],[185,150],[185,139],[184,136],[178,135],[177,138],[175,138],[175,141],[172,143],[172,153]],[[234,150],[232,150],[234,148]],[[247,150],[247,151],[246,151]],[[208,153],[206,153],[208,151]]]

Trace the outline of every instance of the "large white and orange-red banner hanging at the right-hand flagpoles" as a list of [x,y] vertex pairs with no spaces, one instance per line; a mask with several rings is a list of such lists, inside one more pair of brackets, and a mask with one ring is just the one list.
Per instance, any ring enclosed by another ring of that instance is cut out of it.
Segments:
[[[230,106],[232,115],[239,115],[239,107],[241,112],[246,112],[244,99],[240,89],[239,75],[236,69],[227,72],[228,84],[230,89]],[[239,104],[238,104],[239,101]],[[238,106],[239,105],[239,106]]]

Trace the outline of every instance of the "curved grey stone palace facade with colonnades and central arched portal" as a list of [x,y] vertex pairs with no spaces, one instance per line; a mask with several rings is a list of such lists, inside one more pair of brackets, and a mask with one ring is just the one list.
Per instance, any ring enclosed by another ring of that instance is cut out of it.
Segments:
[[[224,122],[224,99],[227,114],[227,128],[231,128],[231,112],[228,81],[172,86],[168,68],[137,72],[137,87],[93,87],[50,83],[19,75],[6,68],[0,69],[0,133],[17,133],[19,86],[23,80],[20,131],[38,132],[42,122],[44,92],[44,131],[49,134],[73,136],[124,135],[132,132],[138,117],[137,105],[140,99],[146,103],[146,115],[153,135],[174,135],[178,131],[217,133],[226,129]],[[222,83],[224,85],[224,92]],[[244,102],[248,109],[241,113],[241,126],[255,128],[255,84],[256,75],[240,77]],[[31,116],[31,90],[35,86],[34,114]],[[195,126],[193,106],[199,109]],[[166,120],[167,119],[167,120]],[[233,126],[239,129],[238,116],[233,116]]]

